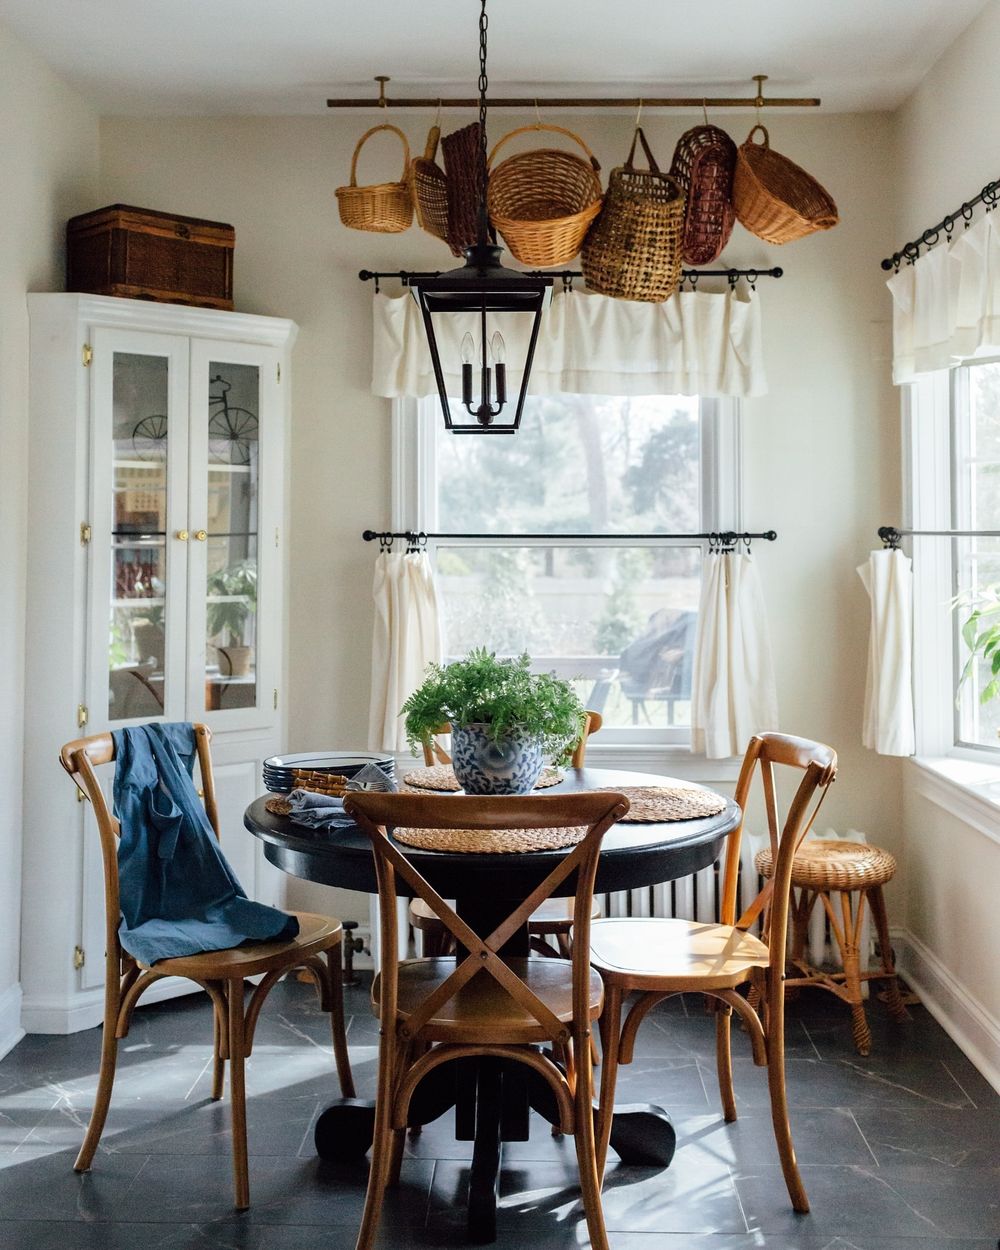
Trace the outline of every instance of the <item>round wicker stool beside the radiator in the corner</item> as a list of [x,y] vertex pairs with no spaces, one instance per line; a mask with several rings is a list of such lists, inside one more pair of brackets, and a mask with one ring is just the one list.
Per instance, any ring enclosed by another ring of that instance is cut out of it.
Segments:
[[[758,851],[754,862],[761,876],[771,876],[774,865],[770,849]],[[889,1011],[895,1020],[908,1018],[892,962],[889,920],[882,899],[882,885],[891,880],[895,871],[896,861],[889,851],[880,850],[878,846],[865,846],[862,842],[842,841],[802,842],[795,852],[791,868],[791,884],[798,888],[799,895],[794,899],[791,908],[791,955],[789,962],[799,975],[788,976],[785,989],[794,985],[820,986],[850,1004],[854,1044],[859,1055],[868,1055],[871,1050],[871,1030],[861,998],[862,981],[872,979],[886,981]],[[831,900],[834,894],[840,895],[839,916]],[[858,895],[856,905],[851,898],[854,894]],[[830,930],[840,948],[844,961],[842,972],[824,971],[814,968],[805,959],[809,918],[816,899],[822,900]],[[882,965],[874,972],[862,972],[860,961],[865,901],[868,901],[875,921]]]

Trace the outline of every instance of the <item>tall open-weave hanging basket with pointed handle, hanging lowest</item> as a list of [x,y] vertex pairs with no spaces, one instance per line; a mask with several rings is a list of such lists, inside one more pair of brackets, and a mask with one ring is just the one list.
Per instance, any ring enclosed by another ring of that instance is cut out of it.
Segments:
[[[649,169],[632,164],[642,144]],[[660,171],[641,128],[635,128],[624,165],[611,171],[604,210],[584,242],[584,279],[591,291],[659,304],[681,278],[684,191]]]

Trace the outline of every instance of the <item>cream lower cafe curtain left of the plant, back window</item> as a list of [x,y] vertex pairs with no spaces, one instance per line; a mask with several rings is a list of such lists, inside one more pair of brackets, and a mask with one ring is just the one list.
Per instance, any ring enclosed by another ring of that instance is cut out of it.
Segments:
[[371,640],[371,751],[402,751],[400,708],[424,670],[441,660],[441,626],[434,570],[426,552],[384,551],[375,559],[375,630]]

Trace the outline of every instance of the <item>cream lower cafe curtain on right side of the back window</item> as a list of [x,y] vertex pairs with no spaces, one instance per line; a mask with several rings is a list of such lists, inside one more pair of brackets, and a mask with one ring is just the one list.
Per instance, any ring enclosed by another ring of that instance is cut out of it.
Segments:
[[778,729],[768,614],[749,551],[708,558],[691,680],[691,749],[742,755],[754,734]]

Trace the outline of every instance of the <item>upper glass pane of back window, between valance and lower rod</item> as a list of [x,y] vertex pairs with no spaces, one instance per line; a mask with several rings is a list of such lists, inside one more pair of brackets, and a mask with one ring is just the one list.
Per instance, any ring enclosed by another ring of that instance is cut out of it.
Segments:
[[655,534],[700,526],[698,399],[548,395],[512,438],[436,420],[438,525],[472,534]]

